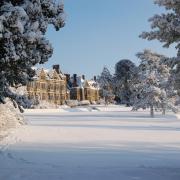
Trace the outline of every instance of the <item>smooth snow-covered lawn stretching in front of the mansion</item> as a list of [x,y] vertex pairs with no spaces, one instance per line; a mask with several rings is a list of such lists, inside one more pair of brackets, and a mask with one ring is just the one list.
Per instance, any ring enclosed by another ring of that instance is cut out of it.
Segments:
[[1,142],[0,180],[180,179],[180,120],[106,108],[26,112]]

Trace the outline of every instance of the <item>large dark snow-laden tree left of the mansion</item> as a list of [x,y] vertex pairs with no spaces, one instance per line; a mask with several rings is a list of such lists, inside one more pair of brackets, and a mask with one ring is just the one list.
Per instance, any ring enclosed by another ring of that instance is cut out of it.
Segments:
[[0,103],[11,99],[27,107],[27,99],[14,88],[31,80],[32,66],[43,64],[53,49],[45,38],[48,25],[64,26],[63,5],[54,0],[0,1]]

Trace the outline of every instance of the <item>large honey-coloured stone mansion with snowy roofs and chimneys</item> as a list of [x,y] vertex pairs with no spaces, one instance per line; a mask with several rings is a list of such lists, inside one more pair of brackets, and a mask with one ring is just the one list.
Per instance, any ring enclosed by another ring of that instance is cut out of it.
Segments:
[[65,104],[66,100],[88,100],[90,103],[100,99],[99,86],[94,80],[85,80],[85,76],[70,77],[63,74],[59,65],[52,70],[37,69],[33,81],[27,85],[28,97],[34,101],[47,101],[56,105]]

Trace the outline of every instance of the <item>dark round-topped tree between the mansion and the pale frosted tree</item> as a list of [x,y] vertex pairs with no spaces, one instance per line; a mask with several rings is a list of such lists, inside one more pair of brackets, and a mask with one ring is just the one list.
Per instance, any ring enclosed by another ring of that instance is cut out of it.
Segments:
[[131,104],[130,96],[132,94],[130,85],[136,76],[136,70],[135,64],[128,59],[120,60],[115,65],[114,92],[120,98],[121,103],[128,106]]

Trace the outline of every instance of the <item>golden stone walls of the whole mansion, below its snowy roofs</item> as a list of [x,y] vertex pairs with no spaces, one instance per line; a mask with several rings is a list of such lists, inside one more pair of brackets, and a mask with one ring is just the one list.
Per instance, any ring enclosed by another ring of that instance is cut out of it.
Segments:
[[71,87],[67,91],[67,81],[65,76],[61,76],[54,71],[51,77],[43,69],[38,77],[27,85],[27,92],[30,99],[44,100],[57,105],[65,104],[65,100],[73,99],[78,101],[89,100],[99,101],[99,89],[91,87],[88,82],[84,87]]

